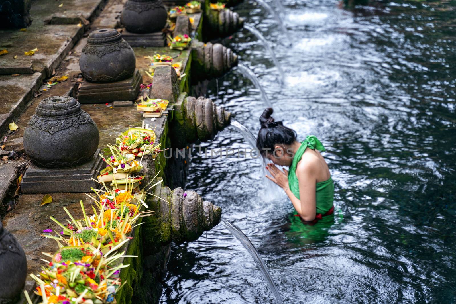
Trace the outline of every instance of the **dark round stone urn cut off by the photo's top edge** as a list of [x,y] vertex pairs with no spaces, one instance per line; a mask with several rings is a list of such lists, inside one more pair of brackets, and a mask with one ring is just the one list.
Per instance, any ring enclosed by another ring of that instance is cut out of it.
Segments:
[[161,31],[167,18],[168,13],[161,0],[128,0],[120,21],[127,31],[144,34]]

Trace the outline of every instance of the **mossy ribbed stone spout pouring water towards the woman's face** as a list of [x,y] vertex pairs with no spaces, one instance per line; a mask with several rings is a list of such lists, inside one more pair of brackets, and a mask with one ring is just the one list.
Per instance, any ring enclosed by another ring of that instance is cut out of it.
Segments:
[[230,123],[231,113],[216,106],[211,99],[204,97],[179,96],[171,121],[172,143],[177,148],[185,147],[197,139],[211,139],[218,131]]

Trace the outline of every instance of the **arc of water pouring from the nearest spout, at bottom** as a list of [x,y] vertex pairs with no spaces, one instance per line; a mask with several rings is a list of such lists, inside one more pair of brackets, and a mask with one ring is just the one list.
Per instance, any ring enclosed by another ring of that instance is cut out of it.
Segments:
[[252,242],[250,242],[249,238],[237,226],[228,222],[224,218],[222,218],[220,222],[223,224],[223,226],[225,226],[225,228],[228,229],[229,232],[231,232],[231,234],[233,234],[234,237],[236,237],[239,242],[241,242],[242,246],[244,246],[252,258],[254,258],[255,263],[257,264],[259,270],[263,273],[264,278],[269,285],[269,289],[271,289],[272,293],[274,294],[275,301],[278,304],[282,304],[282,298],[280,297],[277,287],[275,287],[274,281],[269,274],[268,268],[266,268],[266,265],[264,265],[263,259],[259,256],[258,251],[255,249]]

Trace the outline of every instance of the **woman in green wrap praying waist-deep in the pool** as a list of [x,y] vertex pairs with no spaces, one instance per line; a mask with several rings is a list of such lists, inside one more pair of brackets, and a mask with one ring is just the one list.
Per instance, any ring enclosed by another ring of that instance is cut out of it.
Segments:
[[[334,213],[334,183],[319,152],[325,151],[325,147],[314,135],[298,142],[296,132],[281,121],[275,122],[272,112],[272,108],[267,108],[259,118],[261,129],[257,139],[261,155],[274,163],[266,165],[272,175],[266,177],[282,187],[302,222],[314,224]],[[290,168],[281,171],[275,165]]]

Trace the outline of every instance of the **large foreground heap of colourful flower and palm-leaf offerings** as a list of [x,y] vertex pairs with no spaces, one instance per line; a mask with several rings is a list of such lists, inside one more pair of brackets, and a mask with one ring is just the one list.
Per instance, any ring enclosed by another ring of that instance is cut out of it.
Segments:
[[[41,296],[42,304],[116,303],[116,293],[127,283],[121,282],[119,272],[130,266],[120,261],[137,258],[125,255],[125,244],[130,241],[127,235],[142,224],[135,225],[140,217],[154,214],[151,210],[140,210],[143,206],[148,208],[146,192],[163,181],[148,187],[159,173],[142,191],[131,183],[117,188],[103,183],[101,190],[91,188],[93,194],[86,195],[95,203],[92,216],[86,213],[83,201],[80,201],[82,219],[76,220],[66,207],[63,209],[68,215],[67,223],[50,216],[62,231],[52,234],[52,229],[45,229],[41,236],[56,240],[58,250],[42,252],[48,257],[42,259],[46,266],[39,275],[31,274],[38,285],[34,292]],[[32,304],[28,293],[24,291],[24,294],[28,304]]]

